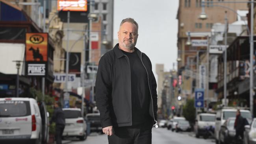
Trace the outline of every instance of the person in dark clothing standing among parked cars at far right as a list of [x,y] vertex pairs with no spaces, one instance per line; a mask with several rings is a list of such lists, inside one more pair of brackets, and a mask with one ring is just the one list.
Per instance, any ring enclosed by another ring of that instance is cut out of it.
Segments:
[[239,142],[241,139],[243,140],[243,131],[245,130],[245,118],[241,116],[240,110],[236,111],[236,120],[234,127],[236,129],[236,142]]

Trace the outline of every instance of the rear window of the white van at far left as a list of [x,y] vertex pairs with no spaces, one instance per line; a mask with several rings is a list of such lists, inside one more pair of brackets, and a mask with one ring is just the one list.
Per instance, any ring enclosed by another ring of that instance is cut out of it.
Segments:
[[17,117],[30,115],[28,101],[0,101],[0,117]]

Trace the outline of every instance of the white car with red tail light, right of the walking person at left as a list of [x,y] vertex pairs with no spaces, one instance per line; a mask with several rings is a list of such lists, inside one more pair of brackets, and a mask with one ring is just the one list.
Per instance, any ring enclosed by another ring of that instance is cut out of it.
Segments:
[[66,123],[62,134],[63,138],[78,137],[80,140],[85,140],[87,138],[86,122],[82,118],[81,109],[64,108],[62,110]]

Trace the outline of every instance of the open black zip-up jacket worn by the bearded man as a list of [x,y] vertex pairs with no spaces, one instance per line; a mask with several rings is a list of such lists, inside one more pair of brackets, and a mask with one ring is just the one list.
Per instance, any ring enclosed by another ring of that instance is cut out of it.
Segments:
[[[152,64],[146,54],[139,51],[148,75],[150,90],[149,114],[152,124],[157,120],[156,79],[152,72]],[[100,111],[102,127],[132,126],[132,97],[130,62],[119,49],[119,44],[100,58],[96,77],[96,103]]]

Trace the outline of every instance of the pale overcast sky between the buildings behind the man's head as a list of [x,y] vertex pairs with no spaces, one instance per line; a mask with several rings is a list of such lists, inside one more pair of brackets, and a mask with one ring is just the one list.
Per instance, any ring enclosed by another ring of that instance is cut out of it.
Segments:
[[[139,24],[136,47],[148,55],[156,75],[156,64],[166,71],[176,66],[178,0],[114,0],[114,39],[122,19],[131,17]],[[175,67],[176,69],[176,67]]]

